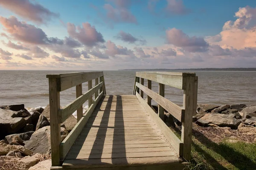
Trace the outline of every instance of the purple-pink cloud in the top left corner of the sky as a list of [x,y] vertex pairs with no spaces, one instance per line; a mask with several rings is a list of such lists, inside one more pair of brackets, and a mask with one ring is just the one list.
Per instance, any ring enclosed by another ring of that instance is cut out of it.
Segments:
[[53,17],[59,17],[39,3],[32,3],[29,0],[0,0],[0,6],[36,23],[46,23]]

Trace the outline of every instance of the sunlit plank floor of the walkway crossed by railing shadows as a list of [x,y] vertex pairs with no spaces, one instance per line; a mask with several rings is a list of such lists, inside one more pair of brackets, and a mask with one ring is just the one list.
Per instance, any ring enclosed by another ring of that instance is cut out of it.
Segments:
[[160,163],[166,168],[182,165],[137,97],[107,95],[99,101],[62,167],[153,168]]

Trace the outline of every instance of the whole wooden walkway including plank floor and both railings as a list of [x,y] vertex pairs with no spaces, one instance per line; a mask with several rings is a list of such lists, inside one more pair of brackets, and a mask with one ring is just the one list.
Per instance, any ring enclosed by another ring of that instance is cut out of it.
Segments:
[[[166,79],[168,81],[157,79],[158,75],[160,78],[167,75],[169,79]],[[183,170],[185,168],[187,162],[184,160],[190,158],[192,115],[196,110],[195,74],[137,72],[134,95],[122,96],[106,95],[103,72],[50,74],[47,77],[51,115],[51,169]],[[143,85],[144,78],[148,79],[148,87]],[[191,78],[190,83],[184,82],[190,81]],[[93,79],[96,80],[94,87]],[[151,81],[161,82],[158,94],[151,90]],[[88,91],[84,94],[81,91],[83,82],[88,82]],[[172,85],[184,90],[183,108],[164,98],[164,85]],[[76,86],[77,99],[60,109],[59,92],[73,86]],[[144,93],[147,94],[146,100],[143,99]],[[151,109],[152,99],[160,104],[159,114]],[[89,101],[89,109],[83,116],[81,106],[86,100]],[[61,142],[60,123],[76,110],[78,123]],[[172,113],[182,122],[181,139],[175,136],[162,121],[164,110]],[[184,136],[186,134],[187,136]]]

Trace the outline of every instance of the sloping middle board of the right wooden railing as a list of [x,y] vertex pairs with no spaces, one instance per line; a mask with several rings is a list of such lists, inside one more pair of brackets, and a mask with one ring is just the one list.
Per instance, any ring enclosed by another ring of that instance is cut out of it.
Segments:
[[161,105],[166,111],[172,114],[176,119],[180,122],[183,122],[183,116],[185,114],[185,110],[180,108],[180,106],[176,105],[175,103],[169,101],[168,99],[160,96],[159,94],[151,91],[150,89],[146,88],[145,86],[141,85],[140,83],[136,83],[140,89],[142,89],[145,94],[150,96],[155,102]]

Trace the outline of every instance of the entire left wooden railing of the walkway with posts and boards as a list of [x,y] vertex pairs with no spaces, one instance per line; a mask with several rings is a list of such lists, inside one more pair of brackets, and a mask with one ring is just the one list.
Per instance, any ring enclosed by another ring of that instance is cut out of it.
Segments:
[[[106,94],[103,71],[47,74],[49,78],[49,105],[52,166],[61,165],[76,138],[81,133],[99,99]],[[95,79],[93,87],[92,80]],[[82,83],[88,82],[88,91],[82,93]],[[60,91],[76,86],[76,99],[60,108]],[[95,94],[95,100],[93,100]],[[88,100],[88,110],[83,116],[83,104]],[[61,142],[61,123],[77,111],[77,124]]]

